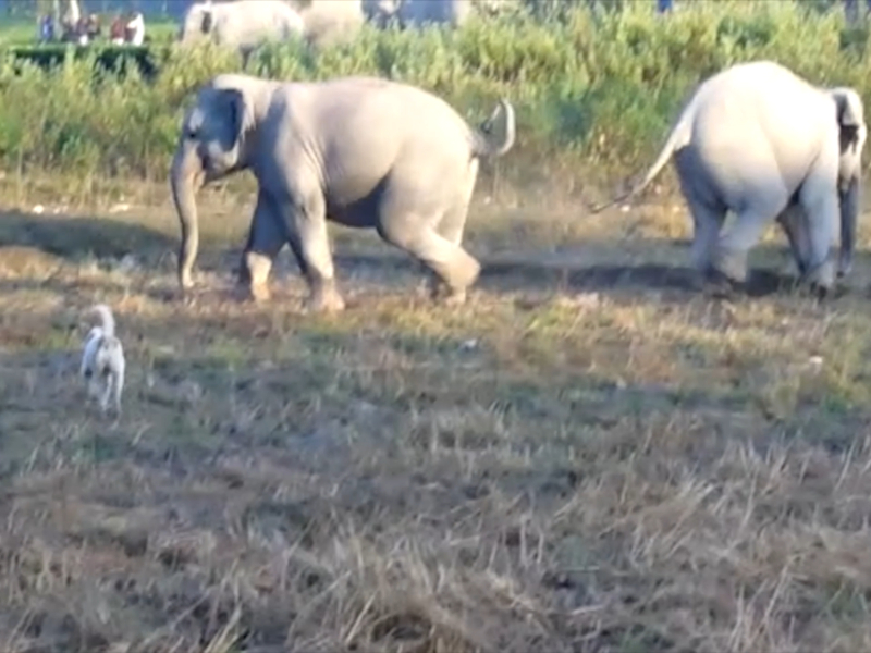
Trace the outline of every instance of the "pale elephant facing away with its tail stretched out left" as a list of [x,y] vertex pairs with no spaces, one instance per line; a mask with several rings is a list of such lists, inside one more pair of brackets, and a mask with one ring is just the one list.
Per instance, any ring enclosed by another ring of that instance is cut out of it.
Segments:
[[[674,155],[697,269],[744,282],[748,250],[776,221],[802,280],[825,292],[838,225],[837,275],[852,264],[866,136],[852,88],[819,88],[771,61],[733,65],[699,85],[643,180],[593,212],[636,196]],[[737,220],[721,233],[728,210]]]

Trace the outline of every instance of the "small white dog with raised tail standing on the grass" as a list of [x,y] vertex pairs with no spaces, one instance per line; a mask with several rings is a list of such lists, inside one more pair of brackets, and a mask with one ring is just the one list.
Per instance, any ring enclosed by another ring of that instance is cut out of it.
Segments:
[[88,383],[88,395],[99,396],[102,412],[106,414],[111,398],[115,412],[120,415],[121,391],[124,389],[124,348],[115,337],[115,320],[109,307],[98,304],[91,311],[100,316],[102,324],[88,332],[82,354],[81,374]]

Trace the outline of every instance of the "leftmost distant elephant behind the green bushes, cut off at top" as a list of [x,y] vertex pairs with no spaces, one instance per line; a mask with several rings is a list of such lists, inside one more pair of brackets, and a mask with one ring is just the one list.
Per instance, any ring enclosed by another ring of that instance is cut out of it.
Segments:
[[299,13],[282,0],[198,2],[185,13],[180,39],[191,42],[207,36],[247,57],[263,40],[302,37],[304,32]]

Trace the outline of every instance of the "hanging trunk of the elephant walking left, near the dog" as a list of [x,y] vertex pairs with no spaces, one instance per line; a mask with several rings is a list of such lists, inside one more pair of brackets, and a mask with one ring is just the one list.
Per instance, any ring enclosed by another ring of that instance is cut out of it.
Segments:
[[203,162],[192,147],[181,146],[172,160],[170,173],[172,200],[182,226],[179,250],[179,285],[182,292],[193,285],[191,270],[199,248],[199,225],[195,194],[204,183]]

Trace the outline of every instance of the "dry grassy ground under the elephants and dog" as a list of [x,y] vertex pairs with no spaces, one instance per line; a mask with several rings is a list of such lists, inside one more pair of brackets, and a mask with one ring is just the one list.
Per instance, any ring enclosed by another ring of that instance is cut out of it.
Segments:
[[[679,201],[478,194],[467,306],[333,230],[348,309],[228,298],[250,214],[0,214],[0,651],[871,649],[869,230],[848,292],[698,293]],[[126,257],[126,258],[125,258]],[[124,412],[76,378],[115,311]]]

